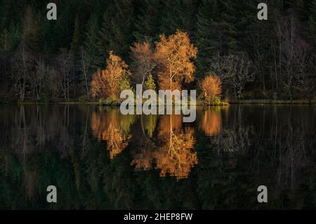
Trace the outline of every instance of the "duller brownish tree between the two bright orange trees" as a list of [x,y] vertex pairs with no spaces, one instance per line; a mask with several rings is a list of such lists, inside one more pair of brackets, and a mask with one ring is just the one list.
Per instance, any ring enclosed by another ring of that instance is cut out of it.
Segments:
[[145,80],[151,74],[157,65],[154,50],[150,43],[134,43],[131,47],[131,58],[133,60],[131,70],[133,72],[132,79],[136,84],[144,84]]

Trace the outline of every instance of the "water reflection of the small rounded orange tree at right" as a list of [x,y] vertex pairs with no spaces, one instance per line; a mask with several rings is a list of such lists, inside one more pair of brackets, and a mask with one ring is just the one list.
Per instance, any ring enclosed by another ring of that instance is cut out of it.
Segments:
[[216,136],[222,130],[222,117],[220,107],[209,107],[204,110],[199,129],[202,129],[206,136]]

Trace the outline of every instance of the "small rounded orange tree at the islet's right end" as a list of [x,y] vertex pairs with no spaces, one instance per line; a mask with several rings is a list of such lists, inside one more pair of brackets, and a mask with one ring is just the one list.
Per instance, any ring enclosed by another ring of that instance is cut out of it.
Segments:
[[203,79],[200,84],[203,91],[204,100],[211,104],[216,98],[220,97],[222,91],[222,82],[217,75],[209,75]]

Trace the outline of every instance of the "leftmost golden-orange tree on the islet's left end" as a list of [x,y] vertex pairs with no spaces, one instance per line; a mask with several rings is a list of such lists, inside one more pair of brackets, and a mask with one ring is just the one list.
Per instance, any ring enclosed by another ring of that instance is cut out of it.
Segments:
[[105,70],[98,70],[93,74],[91,93],[96,97],[114,97],[119,94],[119,81],[124,75],[131,75],[128,66],[119,56],[110,51]]

